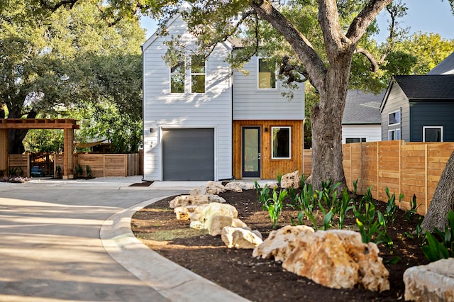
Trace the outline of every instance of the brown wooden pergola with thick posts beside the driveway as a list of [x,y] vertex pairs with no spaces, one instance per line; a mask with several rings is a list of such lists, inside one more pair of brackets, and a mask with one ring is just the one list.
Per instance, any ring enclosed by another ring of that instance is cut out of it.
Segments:
[[[74,152],[74,129],[79,129],[76,120],[67,118],[0,118],[0,171],[8,172],[9,129],[63,129],[64,169],[63,179],[72,179],[72,154]],[[6,172],[6,173],[5,173]]]

